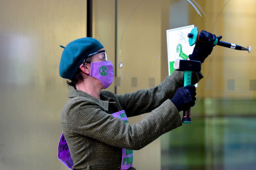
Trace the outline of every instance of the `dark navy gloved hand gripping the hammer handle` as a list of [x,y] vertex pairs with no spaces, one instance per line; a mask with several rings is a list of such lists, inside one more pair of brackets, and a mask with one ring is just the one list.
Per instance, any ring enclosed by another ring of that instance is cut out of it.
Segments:
[[187,85],[178,88],[171,101],[180,112],[181,110],[187,110],[195,105],[195,96],[196,87],[194,85]]

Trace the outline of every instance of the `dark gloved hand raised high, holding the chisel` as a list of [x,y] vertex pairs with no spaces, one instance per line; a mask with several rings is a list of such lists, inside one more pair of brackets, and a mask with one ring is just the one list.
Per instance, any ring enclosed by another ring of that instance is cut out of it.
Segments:
[[[196,41],[196,46],[193,53],[188,55],[188,57],[190,60],[204,63],[205,58],[212,53],[212,48],[214,47],[213,42],[215,41],[216,36],[206,31],[201,31],[200,34],[202,35],[202,39],[200,39],[201,41]],[[217,38],[220,40],[222,37]]]

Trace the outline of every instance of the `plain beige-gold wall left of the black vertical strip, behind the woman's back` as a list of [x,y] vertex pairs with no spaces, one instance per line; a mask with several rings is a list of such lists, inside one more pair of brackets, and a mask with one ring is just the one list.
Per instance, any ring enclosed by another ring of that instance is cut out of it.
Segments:
[[0,0],[0,169],[67,169],[58,160],[59,76],[68,42],[86,36],[86,1]]

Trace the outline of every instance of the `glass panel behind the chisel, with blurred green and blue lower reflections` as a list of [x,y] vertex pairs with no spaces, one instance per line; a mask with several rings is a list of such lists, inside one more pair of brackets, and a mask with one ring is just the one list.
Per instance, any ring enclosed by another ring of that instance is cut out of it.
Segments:
[[222,35],[221,41],[250,45],[252,52],[214,47],[202,65],[192,124],[161,137],[163,170],[255,168],[255,5],[249,0],[169,1],[169,29],[194,24]]

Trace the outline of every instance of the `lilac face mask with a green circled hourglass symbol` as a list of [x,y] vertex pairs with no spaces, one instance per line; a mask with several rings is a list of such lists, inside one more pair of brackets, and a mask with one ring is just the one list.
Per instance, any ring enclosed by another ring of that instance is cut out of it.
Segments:
[[100,80],[104,89],[108,88],[114,78],[113,64],[110,61],[91,63],[90,76]]

